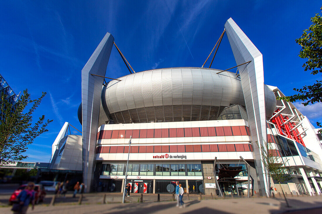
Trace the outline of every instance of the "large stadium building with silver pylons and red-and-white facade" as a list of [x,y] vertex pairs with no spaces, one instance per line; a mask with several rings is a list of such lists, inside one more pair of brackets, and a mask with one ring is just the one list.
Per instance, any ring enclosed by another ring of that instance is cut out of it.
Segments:
[[108,83],[107,33],[82,69],[82,136],[66,137],[64,125],[51,169],[82,169],[87,192],[122,192],[127,176],[137,193],[172,192],[179,181],[186,192],[265,196],[271,187],[281,192],[262,162],[259,146],[269,142],[292,176],[284,191],[321,194],[317,131],[292,103],[276,100],[283,94],[264,84],[262,54],[231,18],[224,29],[236,73],[162,68]]

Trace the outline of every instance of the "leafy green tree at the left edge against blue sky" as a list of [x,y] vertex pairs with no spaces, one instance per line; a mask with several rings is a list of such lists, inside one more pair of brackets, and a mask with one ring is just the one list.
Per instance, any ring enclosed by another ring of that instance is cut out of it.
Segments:
[[[33,112],[36,110],[45,92],[38,99],[32,100],[28,90],[20,96],[18,103],[12,106],[6,94],[1,94],[0,103],[0,166],[21,161],[27,156],[22,154],[33,143],[33,140],[48,131],[46,126],[52,120],[45,121],[45,116],[39,117],[33,124]],[[30,109],[26,109],[31,105]]]

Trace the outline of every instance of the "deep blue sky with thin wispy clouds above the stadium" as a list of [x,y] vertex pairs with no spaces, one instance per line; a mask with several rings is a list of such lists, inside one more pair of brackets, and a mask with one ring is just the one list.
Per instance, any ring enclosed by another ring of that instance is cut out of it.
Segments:
[[[318,78],[304,72],[295,40],[320,7],[321,1],[1,1],[0,73],[15,93],[47,92],[34,116],[54,120],[26,161],[50,160],[65,121],[81,130],[81,69],[106,32],[135,71],[201,67],[232,17],[263,54],[265,84],[291,95]],[[224,36],[212,67],[235,65]],[[106,76],[128,73],[113,48]],[[296,105],[312,124],[322,120],[321,103]]]

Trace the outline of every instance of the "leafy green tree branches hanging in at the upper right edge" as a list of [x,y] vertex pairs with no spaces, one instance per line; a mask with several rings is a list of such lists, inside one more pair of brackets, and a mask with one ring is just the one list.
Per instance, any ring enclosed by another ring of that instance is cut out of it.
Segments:
[[[322,7],[320,8],[322,10]],[[316,13],[311,18],[313,23],[308,30],[304,30],[302,36],[296,40],[302,48],[298,54],[300,58],[307,59],[303,64],[304,71],[311,71],[312,75],[322,73],[322,17]],[[302,103],[307,106],[309,103],[322,102],[322,80],[316,80],[313,85],[305,85],[302,88],[294,88],[298,94],[292,96],[278,97],[279,100],[295,102],[297,100],[305,101]],[[322,127],[317,122],[319,127]]]

